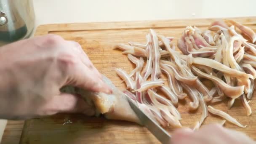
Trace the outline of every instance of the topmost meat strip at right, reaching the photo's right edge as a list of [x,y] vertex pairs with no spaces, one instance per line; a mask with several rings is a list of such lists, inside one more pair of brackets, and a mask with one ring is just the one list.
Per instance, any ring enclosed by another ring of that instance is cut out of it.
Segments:
[[255,34],[255,32],[253,32],[253,30],[251,28],[246,27],[246,26],[244,26],[242,24],[239,24],[238,22],[233,21],[233,20],[226,20],[226,22],[227,23],[231,23],[232,25],[235,25],[235,27],[240,29],[241,32],[243,32],[243,34],[247,35],[251,39],[252,43],[255,43],[255,41],[256,41],[256,34]]

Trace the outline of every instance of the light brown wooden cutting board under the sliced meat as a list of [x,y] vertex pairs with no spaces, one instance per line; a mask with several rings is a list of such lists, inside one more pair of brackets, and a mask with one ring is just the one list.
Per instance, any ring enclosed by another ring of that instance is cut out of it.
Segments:
[[[128,41],[145,42],[145,35],[149,28],[166,37],[175,37],[177,40],[186,26],[197,26],[200,29],[207,29],[214,19],[197,20],[165,20],[165,21],[133,21],[133,22],[108,22],[108,23],[86,23],[86,24],[47,24],[37,28],[35,35],[56,34],[66,40],[75,40],[82,45],[83,50],[97,69],[113,83],[124,88],[120,78],[115,74],[114,69],[121,67],[130,72],[134,66],[128,61],[121,51],[113,50],[117,43]],[[233,18],[251,27],[256,31],[256,17]],[[181,124],[188,127],[199,120],[200,108],[196,112],[188,112],[189,99],[179,103],[181,112]],[[226,123],[225,127],[242,131],[256,140],[256,97],[250,103],[252,115],[246,116],[245,109],[239,100],[231,109],[227,109],[227,103],[214,104],[214,107],[235,117],[240,123],[248,125],[247,128],[238,128],[235,125]],[[72,123],[64,124],[70,120]],[[220,122],[219,117],[209,115],[205,123]],[[23,127],[24,124],[24,127]],[[168,131],[172,131],[169,129]],[[22,134],[21,134],[22,132]],[[106,120],[101,117],[85,117],[84,115],[59,114],[41,119],[23,121],[8,121],[5,129],[2,144],[155,144],[157,139],[135,123],[125,121]]]

